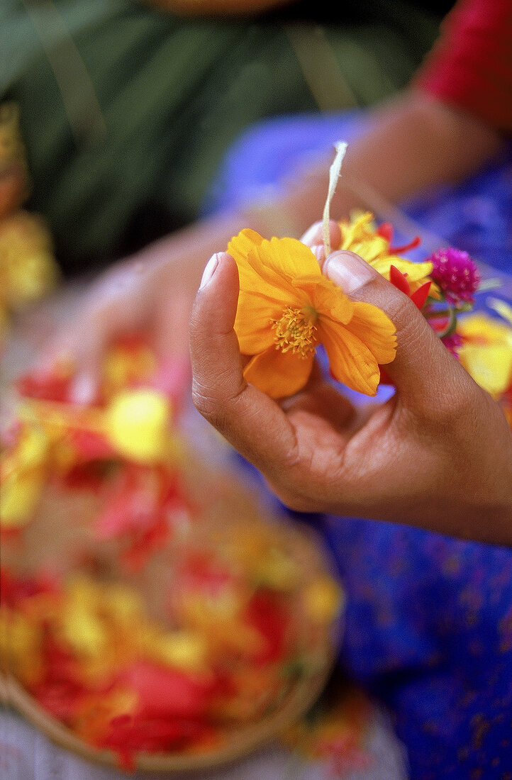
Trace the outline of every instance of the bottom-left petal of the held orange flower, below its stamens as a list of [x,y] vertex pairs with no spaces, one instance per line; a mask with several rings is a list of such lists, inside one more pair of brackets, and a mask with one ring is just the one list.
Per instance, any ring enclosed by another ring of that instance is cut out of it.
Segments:
[[284,398],[304,387],[312,367],[313,353],[302,357],[271,346],[247,363],[244,378],[271,398]]

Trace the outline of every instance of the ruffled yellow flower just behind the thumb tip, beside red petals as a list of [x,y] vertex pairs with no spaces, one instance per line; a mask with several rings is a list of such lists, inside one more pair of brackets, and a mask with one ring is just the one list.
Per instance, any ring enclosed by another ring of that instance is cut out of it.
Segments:
[[[375,271],[389,281],[389,269],[392,265],[407,275],[407,282],[414,293],[418,287],[429,282],[432,273],[432,263],[413,263],[404,257],[393,254],[389,248],[389,240],[380,236],[375,229],[373,215],[370,211],[350,220],[340,222],[342,250],[350,250],[364,258]],[[436,285],[432,283],[430,295],[437,296]]]

